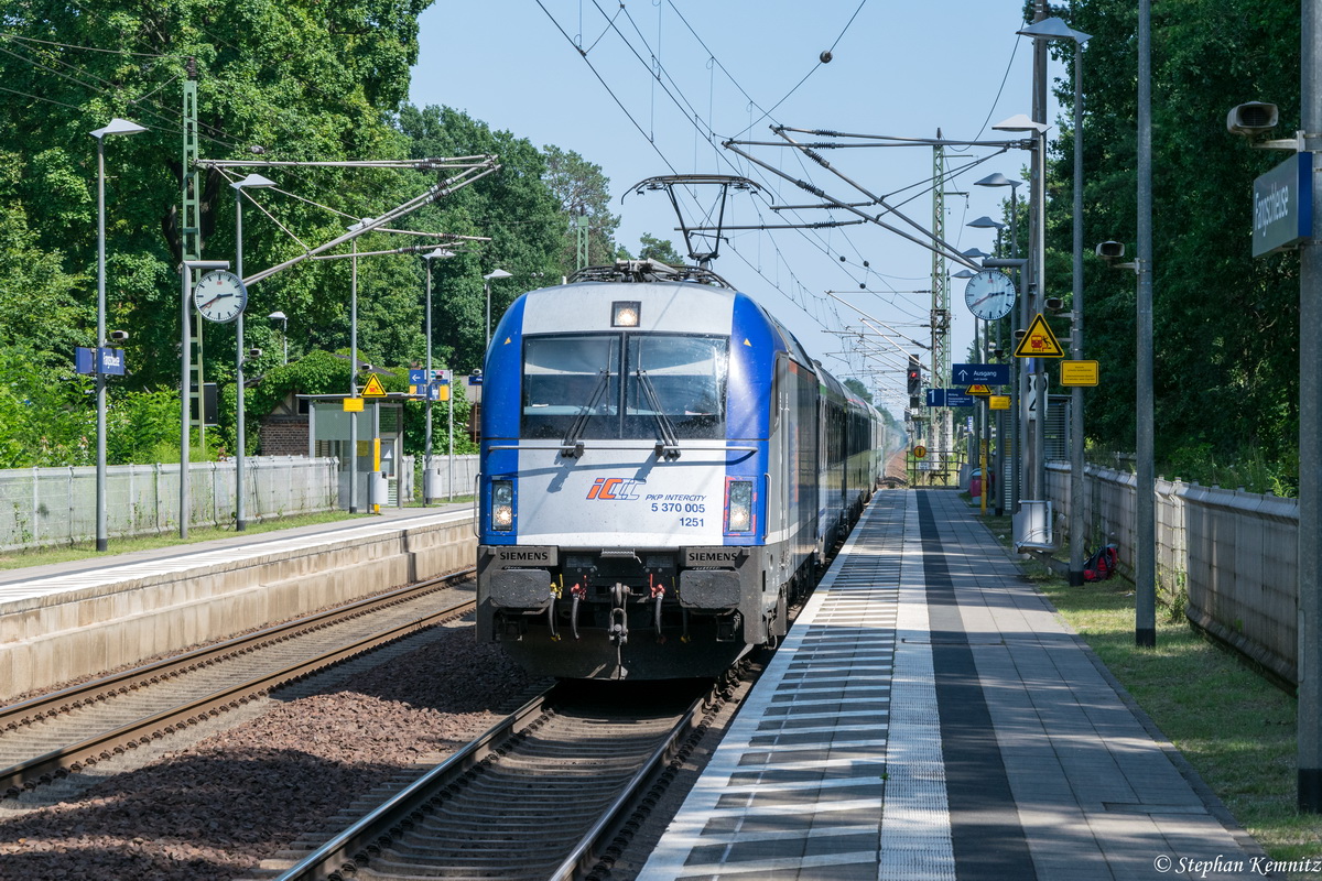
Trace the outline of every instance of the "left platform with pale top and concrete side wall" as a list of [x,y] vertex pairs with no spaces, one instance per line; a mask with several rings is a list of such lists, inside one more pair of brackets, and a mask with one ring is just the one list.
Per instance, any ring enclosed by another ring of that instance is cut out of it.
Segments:
[[472,506],[0,572],[0,703],[468,565]]

